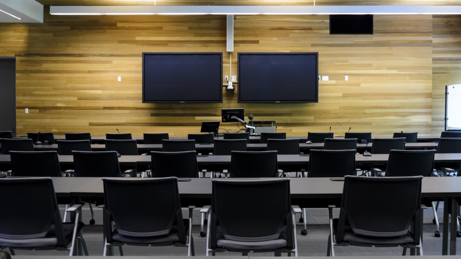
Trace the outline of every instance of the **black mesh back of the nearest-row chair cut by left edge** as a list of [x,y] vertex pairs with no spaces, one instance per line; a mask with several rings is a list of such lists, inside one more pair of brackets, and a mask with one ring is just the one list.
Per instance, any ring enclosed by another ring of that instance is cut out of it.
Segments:
[[0,179],[0,245],[8,239],[45,237],[53,226],[58,246],[66,247],[58,202],[50,177]]

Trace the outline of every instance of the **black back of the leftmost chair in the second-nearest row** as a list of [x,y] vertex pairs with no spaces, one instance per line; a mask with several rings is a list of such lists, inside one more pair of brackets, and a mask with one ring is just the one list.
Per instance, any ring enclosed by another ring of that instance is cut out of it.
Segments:
[[13,176],[60,177],[58,152],[56,151],[11,151]]

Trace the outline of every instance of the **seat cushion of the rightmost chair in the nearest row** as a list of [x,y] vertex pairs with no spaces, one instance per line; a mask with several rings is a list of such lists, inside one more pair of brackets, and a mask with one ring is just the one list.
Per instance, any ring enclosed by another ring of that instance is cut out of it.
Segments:
[[[338,218],[333,219],[333,228],[337,233],[337,226],[339,223]],[[357,235],[352,231],[349,222],[346,221],[344,227],[344,236],[343,240],[351,243],[361,243],[361,244],[372,244],[372,245],[400,245],[413,243],[413,235],[408,232],[407,235],[394,236],[394,237],[376,237],[376,236],[367,236],[367,235]]]

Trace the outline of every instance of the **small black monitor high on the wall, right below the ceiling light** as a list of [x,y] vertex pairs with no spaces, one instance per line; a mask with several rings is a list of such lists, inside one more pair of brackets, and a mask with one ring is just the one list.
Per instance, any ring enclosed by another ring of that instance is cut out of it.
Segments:
[[331,14],[330,34],[373,34],[373,15]]

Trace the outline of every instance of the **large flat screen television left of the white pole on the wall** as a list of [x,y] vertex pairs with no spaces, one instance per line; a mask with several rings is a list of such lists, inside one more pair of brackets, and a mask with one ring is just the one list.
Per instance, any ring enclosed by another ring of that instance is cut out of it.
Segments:
[[142,53],[143,103],[222,103],[223,53]]

